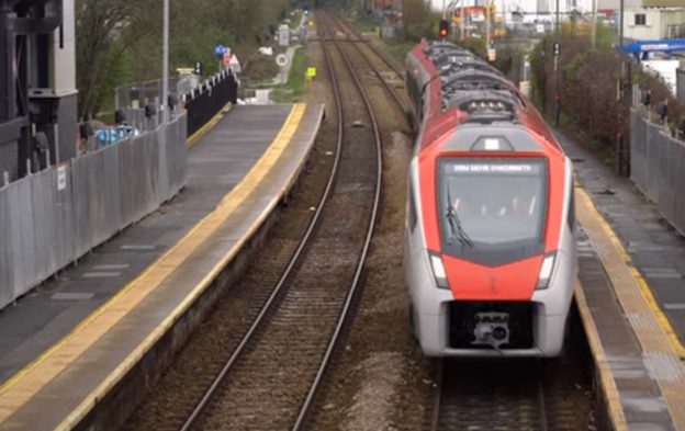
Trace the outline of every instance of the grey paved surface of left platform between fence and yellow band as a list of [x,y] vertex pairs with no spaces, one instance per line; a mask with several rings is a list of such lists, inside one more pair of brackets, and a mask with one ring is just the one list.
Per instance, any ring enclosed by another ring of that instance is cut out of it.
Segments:
[[216,207],[271,144],[290,106],[237,106],[188,154],[188,184],[45,287],[0,311],[0,385],[70,332]]

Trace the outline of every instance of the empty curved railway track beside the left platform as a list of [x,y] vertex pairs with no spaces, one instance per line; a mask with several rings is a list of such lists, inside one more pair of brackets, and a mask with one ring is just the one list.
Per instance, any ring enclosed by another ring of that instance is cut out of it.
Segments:
[[318,203],[308,204],[314,216],[306,229],[302,216],[279,222],[277,229],[285,231],[268,243],[272,254],[257,259],[265,273],[251,268],[246,281],[231,287],[232,298],[220,300],[203,333],[190,340],[167,382],[124,429],[288,429],[311,406],[359,286],[382,171],[380,132],[363,88],[353,87],[353,75],[338,76],[347,68],[340,53],[326,55],[337,146],[315,155],[335,154],[335,161]]

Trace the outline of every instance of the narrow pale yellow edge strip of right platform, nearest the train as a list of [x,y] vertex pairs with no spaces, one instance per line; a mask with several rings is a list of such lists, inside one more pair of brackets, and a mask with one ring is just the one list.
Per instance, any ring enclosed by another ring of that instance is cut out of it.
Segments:
[[611,422],[611,429],[614,431],[627,430],[628,424],[626,423],[626,413],[624,412],[624,407],[620,402],[616,381],[614,381],[609,361],[607,360],[604,345],[602,344],[602,339],[597,332],[597,325],[595,324],[595,319],[593,318],[593,315],[587,306],[585,292],[579,281],[575,282],[574,287],[575,303],[579,306],[579,313],[582,317],[581,320],[583,321],[583,328],[585,329],[585,334],[587,336],[587,342],[593,352],[593,358],[595,359],[595,365],[599,374],[599,383],[602,384],[604,399],[609,408],[609,421]]

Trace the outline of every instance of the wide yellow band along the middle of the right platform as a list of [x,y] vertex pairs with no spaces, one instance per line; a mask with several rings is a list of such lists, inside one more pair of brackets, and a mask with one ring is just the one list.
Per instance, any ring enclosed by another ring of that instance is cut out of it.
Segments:
[[630,256],[602,217],[587,193],[576,188],[577,215],[616,296],[642,348],[642,360],[665,398],[676,429],[685,430],[685,367],[683,345],[663,315],[649,285],[632,264]]

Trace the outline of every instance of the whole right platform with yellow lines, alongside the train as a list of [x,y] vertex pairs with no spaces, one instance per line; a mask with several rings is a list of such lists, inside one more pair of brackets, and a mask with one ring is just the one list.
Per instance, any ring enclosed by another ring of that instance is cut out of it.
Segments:
[[576,303],[607,424],[685,429],[685,243],[629,179],[563,133],[574,160]]

